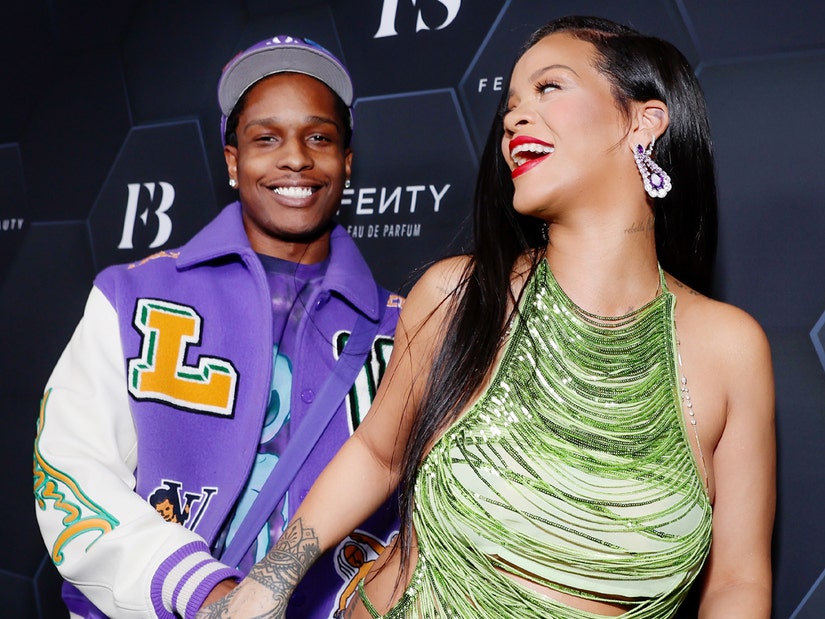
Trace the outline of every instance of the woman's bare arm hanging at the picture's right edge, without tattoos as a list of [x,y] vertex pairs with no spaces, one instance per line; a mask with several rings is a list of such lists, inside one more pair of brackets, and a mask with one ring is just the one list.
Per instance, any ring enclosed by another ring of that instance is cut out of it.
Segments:
[[713,455],[713,543],[699,617],[767,619],[776,504],[770,350],[761,328],[743,312],[732,310],[721,327],[727,417]]

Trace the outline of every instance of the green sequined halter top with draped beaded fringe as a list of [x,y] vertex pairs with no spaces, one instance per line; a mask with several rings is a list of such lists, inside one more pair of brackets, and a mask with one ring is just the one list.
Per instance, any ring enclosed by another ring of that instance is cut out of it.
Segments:
[[603,619],[507,573],[608,603],[623,582],[662,583],[623,617],[676,612],[707,557],[711,509],[661,280],[644,307],[601,317],[539,266],[490,387],[422,464],[419,560],[386,619]]

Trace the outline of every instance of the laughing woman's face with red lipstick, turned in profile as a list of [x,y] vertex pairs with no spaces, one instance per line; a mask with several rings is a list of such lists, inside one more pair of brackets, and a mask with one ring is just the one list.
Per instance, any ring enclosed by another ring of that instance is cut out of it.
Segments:
[[627,120],[595,58],[592,44],[559,33],[513,70],[501,146],[523,214],[552,221],[562,207],[610,198],[612,179],[632,164]]

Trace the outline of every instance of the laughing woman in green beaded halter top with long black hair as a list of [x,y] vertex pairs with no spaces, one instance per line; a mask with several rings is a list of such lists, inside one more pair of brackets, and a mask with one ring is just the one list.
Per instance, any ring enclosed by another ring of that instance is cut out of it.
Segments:
[[204,616],[282,616],[399,483],[401,534],[347,617],[670,617],[700,571],[701,617],[769,616],[770,353],[699,292],[716,197],[687,61],[563,18],[505,92],[475,253],[413,288],[366,421]]

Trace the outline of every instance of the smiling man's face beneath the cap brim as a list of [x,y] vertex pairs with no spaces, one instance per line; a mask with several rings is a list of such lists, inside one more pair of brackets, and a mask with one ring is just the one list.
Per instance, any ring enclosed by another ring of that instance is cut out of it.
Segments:
[[267,77],[247,94],[237,146],[226,146],[252,248],[303,262],[326,258],[352,152],[335,95],[299,73]]

